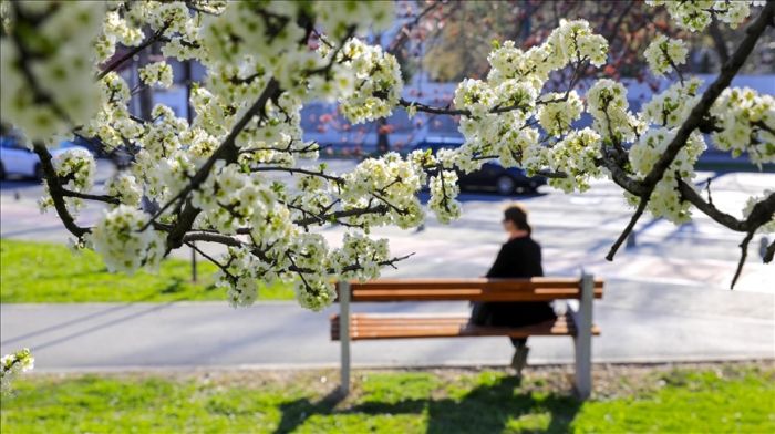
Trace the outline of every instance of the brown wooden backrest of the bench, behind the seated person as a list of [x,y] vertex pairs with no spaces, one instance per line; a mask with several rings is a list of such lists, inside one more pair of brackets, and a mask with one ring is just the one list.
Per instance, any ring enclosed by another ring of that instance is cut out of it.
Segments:
[[[380,279],[352,281],[350,301],[551,301],[581,298],[581,279]],[[345,286],[339,285],[341,290]],[[595,298],[602,298],[595,279]]]

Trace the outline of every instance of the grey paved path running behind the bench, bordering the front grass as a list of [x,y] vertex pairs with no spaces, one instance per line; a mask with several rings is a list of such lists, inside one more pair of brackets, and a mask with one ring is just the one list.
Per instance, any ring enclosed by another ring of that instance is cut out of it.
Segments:
[[[465,311],[464,303],[361,311]],[[329,316],[291,302],[3,304],[0,351],[29,345],[40,371],[334,366]],[[596,362],[775,358],[775,296],[612,280],[596,303]],[[531,338],[529,362],[572,361],[569,338]],[[355,342],[356,366],[506,365],[505,338]]]

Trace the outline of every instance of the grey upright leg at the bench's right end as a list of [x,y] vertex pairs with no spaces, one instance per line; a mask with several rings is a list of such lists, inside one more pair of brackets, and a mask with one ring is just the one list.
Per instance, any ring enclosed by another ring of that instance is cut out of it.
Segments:
[[595,279],[581,275],[581,300],[576,320],[576,393],[586,400],[592,392],[592,298]]

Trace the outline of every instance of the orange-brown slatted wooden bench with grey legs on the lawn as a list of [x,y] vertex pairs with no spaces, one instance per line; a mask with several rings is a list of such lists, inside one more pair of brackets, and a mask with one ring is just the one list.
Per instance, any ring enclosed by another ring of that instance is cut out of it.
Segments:
[[[535,335],[572,337],[576,349],[576,391],[591,393],[592,299],[602,298],[602,280],[580,278],[531,279],[381,279],[339,282],[340,313],[331,317],[331,339],[341,342],[341,391],[350,389],[350,341],[366,339],[475,338]],[[519,328],[469,326],[461,313],[351,313],[353,302],[404,301],[554,301],[579,300],[556,320]]]

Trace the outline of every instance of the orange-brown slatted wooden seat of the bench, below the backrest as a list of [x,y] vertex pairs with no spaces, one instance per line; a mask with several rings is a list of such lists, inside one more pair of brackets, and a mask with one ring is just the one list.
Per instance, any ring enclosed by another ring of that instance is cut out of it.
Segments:
[[[592,334],[600,328],[592,326]],[[519,328],[482,327],[468,324],[467,314],[440,313],[353,313],[350,317],[350,339],[410,339],[410,338],[465,338],[537,335],[576,335],[572,317],[564,314],[555,321],[546,321]],[[339,316],[331,316],[331,339],[339,340]]]

